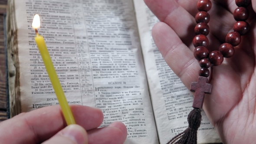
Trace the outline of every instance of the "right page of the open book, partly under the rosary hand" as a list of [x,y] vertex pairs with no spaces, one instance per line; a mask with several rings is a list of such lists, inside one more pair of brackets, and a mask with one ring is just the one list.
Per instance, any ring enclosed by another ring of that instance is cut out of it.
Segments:
[[[161,144],[166,144],[187,128],[187,115],[192,110],[193,95],[169,68],[154,44],[151,29],[159,20],[143,0],[134,0],[134,3],[158,137]],[[220,142],[204,112],[197,142]]]

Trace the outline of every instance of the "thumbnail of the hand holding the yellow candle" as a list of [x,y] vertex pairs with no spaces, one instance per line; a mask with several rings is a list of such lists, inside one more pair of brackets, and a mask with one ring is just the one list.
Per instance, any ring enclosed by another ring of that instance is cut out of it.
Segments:
[[86,131],[77,124],[70,124],[64,128],[60,134],[64,137],[68,137],[76,144],[87,144],[87,133]]

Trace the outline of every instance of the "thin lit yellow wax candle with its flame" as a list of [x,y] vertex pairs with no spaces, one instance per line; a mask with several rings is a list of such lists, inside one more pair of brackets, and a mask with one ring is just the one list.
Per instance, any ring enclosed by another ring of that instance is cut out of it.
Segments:
[[[37,21],[37,23],[36,23],[35,20]],[[38,22],[38,20],[39,20],[39,22]],[[34,23],[34,21],[35,21],[35,23]],[[42,59],[43,59],[44,65],[46,67],[46,70],[48,72],[49,78],[50,78],[50,80],[52,82],[53,89],[54,89],[54,91],[56,93],[56,96],[58,98],[59,105],[60,105],[60,107],[62,109],[62,113],[64,115],[66,123],[68,125],[69,124],[75,124],[75,119],[74,119],[74,117],[72,115],[72,112],[70,110],[69,104],[68,104],[68,102],[66,100],[66,97],[65,97],[65,94],[63,92],[62,86],[61,86],[61,84],[59,82],[58,75],[57,75],[57,73],[56,73],[56,71],[54,69],[52,59],[51,59],[51,57],[49,55],[49,52],[48,52],[48,49],[46,47],[46,43],[45,43],[45,41],[43,39],[43,36],[40,36],[37,33],[37,29],[40,26],[39,15],[35,15],[32,26],[36,30],[35,41],[36,41],[36,44],[37,44],[38,49],[40,51],[40,54],[42,56]]]

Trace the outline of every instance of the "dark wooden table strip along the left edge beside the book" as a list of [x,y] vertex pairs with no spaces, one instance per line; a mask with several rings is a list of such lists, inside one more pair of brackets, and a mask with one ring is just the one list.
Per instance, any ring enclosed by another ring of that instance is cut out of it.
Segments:
[[6,73],[4,55],[3,15],[6,13],[7,0],[0,0],[0,121],[7,119],[6,115]]

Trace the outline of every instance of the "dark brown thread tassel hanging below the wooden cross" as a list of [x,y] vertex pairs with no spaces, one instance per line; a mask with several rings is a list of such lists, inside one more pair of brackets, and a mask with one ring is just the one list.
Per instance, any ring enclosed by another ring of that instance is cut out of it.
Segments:
[[187,116],[188,128],[167,144],[197,144],[197,129],[200,127],[201,119],[201,109],[194,108]]

